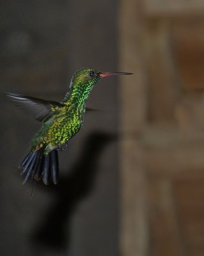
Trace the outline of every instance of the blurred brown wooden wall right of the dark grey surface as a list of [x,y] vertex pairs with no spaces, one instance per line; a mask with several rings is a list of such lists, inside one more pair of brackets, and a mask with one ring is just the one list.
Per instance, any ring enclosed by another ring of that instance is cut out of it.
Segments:
[[122,1],[122,255],[203,255],[203,1]]

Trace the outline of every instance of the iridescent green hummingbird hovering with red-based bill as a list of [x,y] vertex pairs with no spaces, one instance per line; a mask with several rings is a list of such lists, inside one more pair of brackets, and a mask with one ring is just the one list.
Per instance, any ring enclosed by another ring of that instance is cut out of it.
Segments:
[[13,104],[42,123],[40,131],[31,141],[29,153],[20,163],[21,175],[45,185],[59,180],[58,151],[66,150],[68,141],[80,131],[86,102],[92,88],[103,77],[130,75],[129,72],[99,72],[80,68],[73,74],[68,92],[61,103],[43,100],[18,93],[6,93]]

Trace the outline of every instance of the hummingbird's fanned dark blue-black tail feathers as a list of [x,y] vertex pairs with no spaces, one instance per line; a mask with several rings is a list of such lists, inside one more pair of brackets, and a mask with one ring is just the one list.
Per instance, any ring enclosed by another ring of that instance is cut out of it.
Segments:
[[25,174],[23,184],[29,177],[31,180],[40,180],[43,177],[45,185],[48,185],[52,178],[53,183],[57,184],[59,177],[57,150],[52,150],[47,156],[44,154],[44,148],[31,152],[25,156],[19,168],[22,169],[20,175]]

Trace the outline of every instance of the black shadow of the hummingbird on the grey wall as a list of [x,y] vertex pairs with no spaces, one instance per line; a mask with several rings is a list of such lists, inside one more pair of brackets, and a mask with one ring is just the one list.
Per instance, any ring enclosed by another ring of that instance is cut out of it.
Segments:
[[113,134],[104,132],[89,134],[71,173],[61,177],[57,186],[45,188],[55,194],[55,201],[48,207],[41,223],[31,235],[34,244],[57,250],[68,248],[71,216],[80,201],[91,193],[101,151],[115,138]]

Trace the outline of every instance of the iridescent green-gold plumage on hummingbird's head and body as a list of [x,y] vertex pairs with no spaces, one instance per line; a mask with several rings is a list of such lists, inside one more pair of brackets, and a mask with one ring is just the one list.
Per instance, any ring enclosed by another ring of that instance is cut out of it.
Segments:
[[[96,74],[90,76],[90,72]],[[73,78],[69,92],[61,102],[61,106],[52,108],[52,116],[43,125],[33,140],[32,150],[46,145],[45,154],[53,149],[60,149],[70,140],[82,125],[85,113],[85,102],[94,84],[101,79],[100,72],[90,68],[78,70]]]

